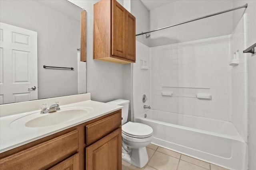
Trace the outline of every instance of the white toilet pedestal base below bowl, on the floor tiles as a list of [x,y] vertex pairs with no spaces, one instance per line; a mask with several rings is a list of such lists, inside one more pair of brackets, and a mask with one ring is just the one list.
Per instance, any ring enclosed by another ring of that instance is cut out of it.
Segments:
[[134,148],[130,154],[122,153],[122,160],[139,168],[144,167],[148,162],[146,147]]

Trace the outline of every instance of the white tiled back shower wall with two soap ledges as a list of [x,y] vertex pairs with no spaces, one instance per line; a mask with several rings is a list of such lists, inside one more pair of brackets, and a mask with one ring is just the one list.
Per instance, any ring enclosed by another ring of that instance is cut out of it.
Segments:
[[[152,109],[232,121],[229,35],[151,47],[150,54]],[[212,100],[182,97],[196,93]]]

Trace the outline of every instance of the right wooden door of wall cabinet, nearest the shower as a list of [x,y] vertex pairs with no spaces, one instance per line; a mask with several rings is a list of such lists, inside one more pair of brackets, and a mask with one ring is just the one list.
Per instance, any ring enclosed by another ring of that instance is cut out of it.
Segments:
[[136,27],[135,17],[126,11],[126,58],[135,62],[136,59]]

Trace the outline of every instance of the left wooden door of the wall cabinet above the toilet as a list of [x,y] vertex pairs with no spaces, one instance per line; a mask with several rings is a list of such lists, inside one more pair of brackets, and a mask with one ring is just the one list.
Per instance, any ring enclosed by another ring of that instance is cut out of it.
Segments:
[[126,58],[126,10],[112,1],[112,55]]

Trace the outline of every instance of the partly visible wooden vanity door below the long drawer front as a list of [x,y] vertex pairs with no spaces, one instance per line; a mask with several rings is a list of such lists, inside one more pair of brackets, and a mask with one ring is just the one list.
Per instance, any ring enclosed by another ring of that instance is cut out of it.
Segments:
[[56,166],[50,168],[49,170],[78,170],[79,169],[79,156],[78,153],[63,160]]

